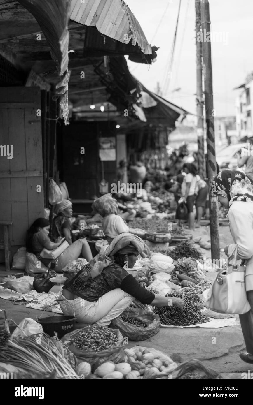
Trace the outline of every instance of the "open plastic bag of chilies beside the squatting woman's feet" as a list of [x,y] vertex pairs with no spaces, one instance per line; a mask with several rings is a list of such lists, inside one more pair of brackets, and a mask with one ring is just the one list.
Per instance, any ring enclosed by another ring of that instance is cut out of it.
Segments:
[[111,325],[117,328],[124,337],[126,336],[130,340],[146,340],[149,337],[156,335],[161,328],[159,315],[154,312],[133,308],[131,311],[126,309],[123,312],[123,315],[133,316],[148,325],[147,328],[132,325],[129,324],[129,322],[124,322],[121,316],[113,319]]

